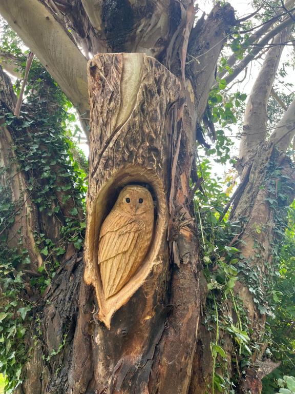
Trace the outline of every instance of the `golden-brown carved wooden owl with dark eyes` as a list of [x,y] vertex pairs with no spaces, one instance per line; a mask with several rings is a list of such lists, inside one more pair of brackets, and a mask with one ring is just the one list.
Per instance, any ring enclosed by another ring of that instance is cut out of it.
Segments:
[[151,193],[139,185],[125,186],[99,233],[98,264],[106,299],[117,293],[140,266],[153,229]]

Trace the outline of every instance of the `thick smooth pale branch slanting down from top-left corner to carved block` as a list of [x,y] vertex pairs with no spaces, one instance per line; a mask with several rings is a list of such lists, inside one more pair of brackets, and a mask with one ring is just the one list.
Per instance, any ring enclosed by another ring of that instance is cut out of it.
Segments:
[[0,13],[80,113],[88,111],[87,60],[38,0],[2,0]]

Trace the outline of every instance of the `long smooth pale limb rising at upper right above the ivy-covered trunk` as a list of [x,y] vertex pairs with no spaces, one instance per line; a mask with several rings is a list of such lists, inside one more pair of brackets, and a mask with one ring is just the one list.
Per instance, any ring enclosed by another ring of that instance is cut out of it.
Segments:
[[284,48],[280,43],[287,41],[290,34],[291,28],[287,27],[275,37],[273,44],[277,45],[272,46],[267,51],[263,65],[248,97],[239,154],[243,161],[247,160],[249,152],[255,149],[257,144],[265,140],[267,102]]

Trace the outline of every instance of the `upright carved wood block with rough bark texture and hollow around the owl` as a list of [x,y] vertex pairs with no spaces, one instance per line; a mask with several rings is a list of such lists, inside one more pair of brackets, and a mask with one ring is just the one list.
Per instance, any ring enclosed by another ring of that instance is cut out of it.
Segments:
[[[163,65],[142,53],[96,55],[88,64],[88,81],[91,137],[85,281],[95,287],[97,320],[110,329],[116,310],[140,287],[144,304],[137,319],[141,322],[155,317],[157,298],[165,297],[167,192],[171,152],[178,137],[180,84]],[[107,280],[101,274],[99,234],[120,190],[130,184],[148,185],[151,190],[156,201],[154,232],[151,241],[147,237],[148,245],[142,244],[148,251],[141,253],[128,280],[104,294],[103,288],[115,273],[111,270]]]

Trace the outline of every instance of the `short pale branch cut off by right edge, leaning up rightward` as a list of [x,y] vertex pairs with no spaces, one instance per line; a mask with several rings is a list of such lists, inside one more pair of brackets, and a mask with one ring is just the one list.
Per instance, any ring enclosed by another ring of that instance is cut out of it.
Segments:
[[284,116],[278,123],[275,131],[270,136],[277,147],[285,152],[295,135],[295,99],[290,104]]

